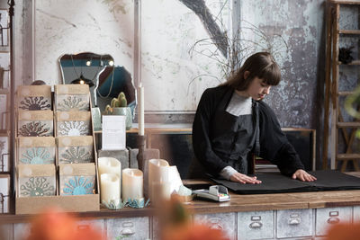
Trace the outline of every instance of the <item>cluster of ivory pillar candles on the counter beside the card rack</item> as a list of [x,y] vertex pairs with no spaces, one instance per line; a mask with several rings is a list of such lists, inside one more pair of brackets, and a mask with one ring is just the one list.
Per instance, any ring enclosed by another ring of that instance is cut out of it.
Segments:
[[125,202],[144,202],[144,185],[153,205],[169,200],[183,185],[175,165],[164,159],[149,159],[145,175],[139,169],[121,170],[121,162],[113,157],[99,157],[101,200],[105,205],[121,206]]

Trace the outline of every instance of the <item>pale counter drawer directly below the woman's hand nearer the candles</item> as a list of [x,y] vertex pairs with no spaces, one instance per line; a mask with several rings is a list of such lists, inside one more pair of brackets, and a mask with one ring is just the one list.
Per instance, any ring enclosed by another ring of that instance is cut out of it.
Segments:
[[274,237],[274,211],[238,212],[238,239]]

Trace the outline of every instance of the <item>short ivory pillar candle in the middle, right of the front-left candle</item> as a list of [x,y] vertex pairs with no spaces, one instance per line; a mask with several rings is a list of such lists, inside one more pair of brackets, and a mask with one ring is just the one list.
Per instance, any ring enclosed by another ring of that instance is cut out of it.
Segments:
[[143,195],[143,174],[139,169],[122,170],[122,200],[141,199]]

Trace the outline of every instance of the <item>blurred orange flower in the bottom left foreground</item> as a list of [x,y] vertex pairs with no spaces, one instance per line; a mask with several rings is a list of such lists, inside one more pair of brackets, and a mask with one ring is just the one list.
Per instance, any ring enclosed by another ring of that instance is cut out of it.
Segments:
[[103,240],[102,233],[92,228],[78,230],[77,220],[59,209],[48,209],[32,219],[27,240]]

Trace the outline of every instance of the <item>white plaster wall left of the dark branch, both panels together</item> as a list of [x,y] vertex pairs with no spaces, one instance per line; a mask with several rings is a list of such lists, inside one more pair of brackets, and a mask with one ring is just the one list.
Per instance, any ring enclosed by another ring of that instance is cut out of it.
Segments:
[[[124,66],[134,76],[133,1],[32,0],[32,4],[34,80],[61,83],[58,58],[82,51],[109,53],[115,65]],[[193,44],[208,39],[209,35],[195,13],[184,4],[177,0],[141,1],[141,4],[141,81],[146,89],[145,110],[195,111],[203,90],[223,81],[218,64],[224,59],[220,54],[215,56],[219,60],[203,54],[191,56],[189,50]],[[215,16],[223,18],[222,24],[228,28],[229,1],[210,0],[206,4]],[[25,12],[31,13],[31,4],[25,6]],[[23,34],[31,38],[29,32]],[[216,52],[212,43],[198,45],[196,50],[205,50],[206,54]]]

